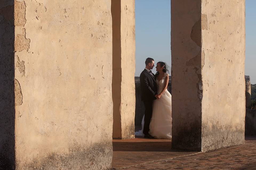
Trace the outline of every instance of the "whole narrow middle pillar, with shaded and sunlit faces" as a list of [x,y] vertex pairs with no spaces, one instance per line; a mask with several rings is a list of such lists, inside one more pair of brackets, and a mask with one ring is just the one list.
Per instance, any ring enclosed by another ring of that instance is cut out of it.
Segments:
[[112,0],[113,138],[134,138],[135,13],[134,0]]

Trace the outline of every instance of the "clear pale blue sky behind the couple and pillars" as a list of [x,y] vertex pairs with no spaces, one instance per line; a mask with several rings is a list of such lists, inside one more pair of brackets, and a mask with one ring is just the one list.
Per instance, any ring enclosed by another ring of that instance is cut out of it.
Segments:
[[[245,74],[256,84],[256,0],[246,0]],[[139,76],[145,59],[151,57],[171,66],[171,0],[135,0],[136,70]],[[155,72],[155,69],[153,69]]]

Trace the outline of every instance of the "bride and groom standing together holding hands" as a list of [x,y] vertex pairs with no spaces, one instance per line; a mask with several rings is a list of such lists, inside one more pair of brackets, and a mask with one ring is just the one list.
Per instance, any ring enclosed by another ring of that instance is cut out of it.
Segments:
[[167,90],[169,74],[164,62],[158,62],[157,73],[154,59],[147,58],[146,67],[140,75],[142,101],[145,114],[142,119],[142,130],[135,132],[145,138],[171,139],[171,94]]

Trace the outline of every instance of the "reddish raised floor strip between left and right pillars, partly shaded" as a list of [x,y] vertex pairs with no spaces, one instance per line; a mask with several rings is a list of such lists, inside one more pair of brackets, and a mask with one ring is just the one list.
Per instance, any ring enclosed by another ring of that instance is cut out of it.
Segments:
[[196,152],[171,149],[171,140],[168,139],[114,139],[112,168],[129,167],[131,165],[194,153]]

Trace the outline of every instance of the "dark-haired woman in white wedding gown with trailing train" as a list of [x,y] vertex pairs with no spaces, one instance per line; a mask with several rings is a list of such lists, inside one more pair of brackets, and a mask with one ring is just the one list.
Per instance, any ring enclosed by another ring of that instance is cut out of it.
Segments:
[[[167,90],[169,72],[164,62],[158,62],[156,66],[155,81],[157,83],[157,100],[153,101],[153,112],[149,125],[149,134],[158,139],[171,139],[171,94]],[[144,116],[142,119],[142,130],[135,135],[143,136]]]

